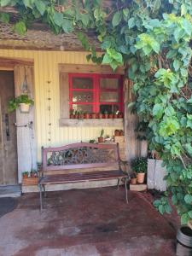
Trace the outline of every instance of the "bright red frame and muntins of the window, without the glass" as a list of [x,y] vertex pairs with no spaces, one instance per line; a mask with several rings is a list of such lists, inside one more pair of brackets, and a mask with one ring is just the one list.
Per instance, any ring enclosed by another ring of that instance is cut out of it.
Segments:
[[[93,79],[93,89],[74,89],[73,78],[91,78]],[[101,89],[100,79],[119,79],[119,89]],[[119,74],[91,74],[91,73],[69,73],[69,109],[73,110],[75,105],[92,105],[92,112],[99,113],[100,105],[118,105],[119,111],[124,112],[123,108],[123,79]],[[73,91],[93,91],[93,102],[73,102]],[[100,102],[101,91],[119,91],[119,102]]]

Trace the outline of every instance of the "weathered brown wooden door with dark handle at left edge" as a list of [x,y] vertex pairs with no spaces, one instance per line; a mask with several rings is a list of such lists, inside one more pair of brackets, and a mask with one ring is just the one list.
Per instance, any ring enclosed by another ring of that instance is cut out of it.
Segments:
[[0,71],[0,184],[17,183],[16,114],[7,110],[14,96],[14,72]]

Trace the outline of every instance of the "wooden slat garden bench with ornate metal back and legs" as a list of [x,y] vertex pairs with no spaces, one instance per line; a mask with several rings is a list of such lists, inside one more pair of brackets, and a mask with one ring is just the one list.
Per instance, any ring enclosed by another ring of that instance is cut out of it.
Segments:
[[45,186],[49,184],[117,179],[119,189],[119,181],[124,178],[125,198],[128,202],[129,177],[121,170],[118,144],[73,143],[59,148],[42,148],[42,155],[42,176],[38,181],[41,210],[42,191],[45,194]]

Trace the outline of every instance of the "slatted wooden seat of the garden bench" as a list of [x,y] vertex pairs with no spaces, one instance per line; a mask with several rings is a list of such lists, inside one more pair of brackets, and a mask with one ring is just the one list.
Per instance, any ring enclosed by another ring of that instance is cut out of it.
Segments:
[[41,177],[39,183],[42,185],[48,184],[61,184],[61,183],[79,183],[79,182],[89,182],[97,180],[106,180],[113,178],[123,178],[127,177],[122,171],[100,171],[100,172],[78,172],[78,173],[68,173],[68,174],[57,174]]

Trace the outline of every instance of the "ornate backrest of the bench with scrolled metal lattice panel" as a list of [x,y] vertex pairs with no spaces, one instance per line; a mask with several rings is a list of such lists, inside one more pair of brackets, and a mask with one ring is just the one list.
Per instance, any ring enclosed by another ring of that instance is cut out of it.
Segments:
[[42,154],[43,172],[119,166],[119,147],[114,143],[73,143],[42,148]]

